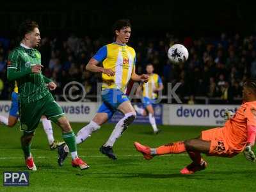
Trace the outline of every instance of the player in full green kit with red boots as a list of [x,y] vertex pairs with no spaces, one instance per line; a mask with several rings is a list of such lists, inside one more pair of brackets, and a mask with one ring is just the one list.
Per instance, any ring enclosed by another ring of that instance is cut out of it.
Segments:
[[[81,170],[89,166],[77,156],[76,138],[61,107],[55,102],[49,90],[56,84],[43,76],[41,54],[35,48],[40,44],[40,32],[35,21],[26,20],[20,24],[20,46],[13,49],[8,57],[7,78],[17,81],[20,101],[20,130],[24,134],[20,138],[26,166],[36,170],[31,155],[31,140],[42,115],[59,125],[63,132],[63,140],[70,148],[72,166]],[[47,86],[45,86],[47,83]]]

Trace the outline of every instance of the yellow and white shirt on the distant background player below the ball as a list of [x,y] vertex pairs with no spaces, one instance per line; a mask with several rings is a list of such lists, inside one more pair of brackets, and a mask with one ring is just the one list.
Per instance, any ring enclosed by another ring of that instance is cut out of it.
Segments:
[[159,88],[159,84],[162,84],[162,79],[157,74],[149,76],[148,82],[143,83],[143,97],[149,99],[156,99],[157,93],[154,93],[155,88]]

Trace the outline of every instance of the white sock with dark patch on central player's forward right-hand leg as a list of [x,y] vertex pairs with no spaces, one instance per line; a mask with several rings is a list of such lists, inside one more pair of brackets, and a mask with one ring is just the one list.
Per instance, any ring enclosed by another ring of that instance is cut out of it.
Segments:
[[115,141],[120,138],[122,133],[127,129],[128,125],[130,125],[134,119],[136,118],[136,113],[130,112],[126,113],[122,119],[117,122],[115,129],[111,133],[108,141],[104,144],[104,147],[111,146],[113,147]]

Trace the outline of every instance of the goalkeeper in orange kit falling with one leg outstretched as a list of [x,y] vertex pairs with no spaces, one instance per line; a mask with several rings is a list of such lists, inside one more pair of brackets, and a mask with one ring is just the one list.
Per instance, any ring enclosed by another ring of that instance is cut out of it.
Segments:
[[243,104],[236,113],[227,120],[224,127],[202,131],[196,139],[178,141],[150,148],[134,143],[136,149],[145,159],[164,154],[188,152],[192,163],[180,170],[182,174],[192,174],[204,170],[207,166],[201,153],[207,156],[233,157],[240,152],[249,161],[255,161],[252,146],[256,136],[256,81],[247,80],[243,85]]

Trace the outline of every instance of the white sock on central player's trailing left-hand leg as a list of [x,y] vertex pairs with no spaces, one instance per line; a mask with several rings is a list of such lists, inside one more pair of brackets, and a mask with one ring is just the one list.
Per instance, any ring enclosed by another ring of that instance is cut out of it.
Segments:
[[83,143],[83,141],[86,140],[92,134],[92,132],[95,132],[98,129],[100,129],[100,125],[91,121],[90,124],[86,125],[82,129],[80,129],[79,132],[77,132],[77,134],[76,134],[76,144]]

